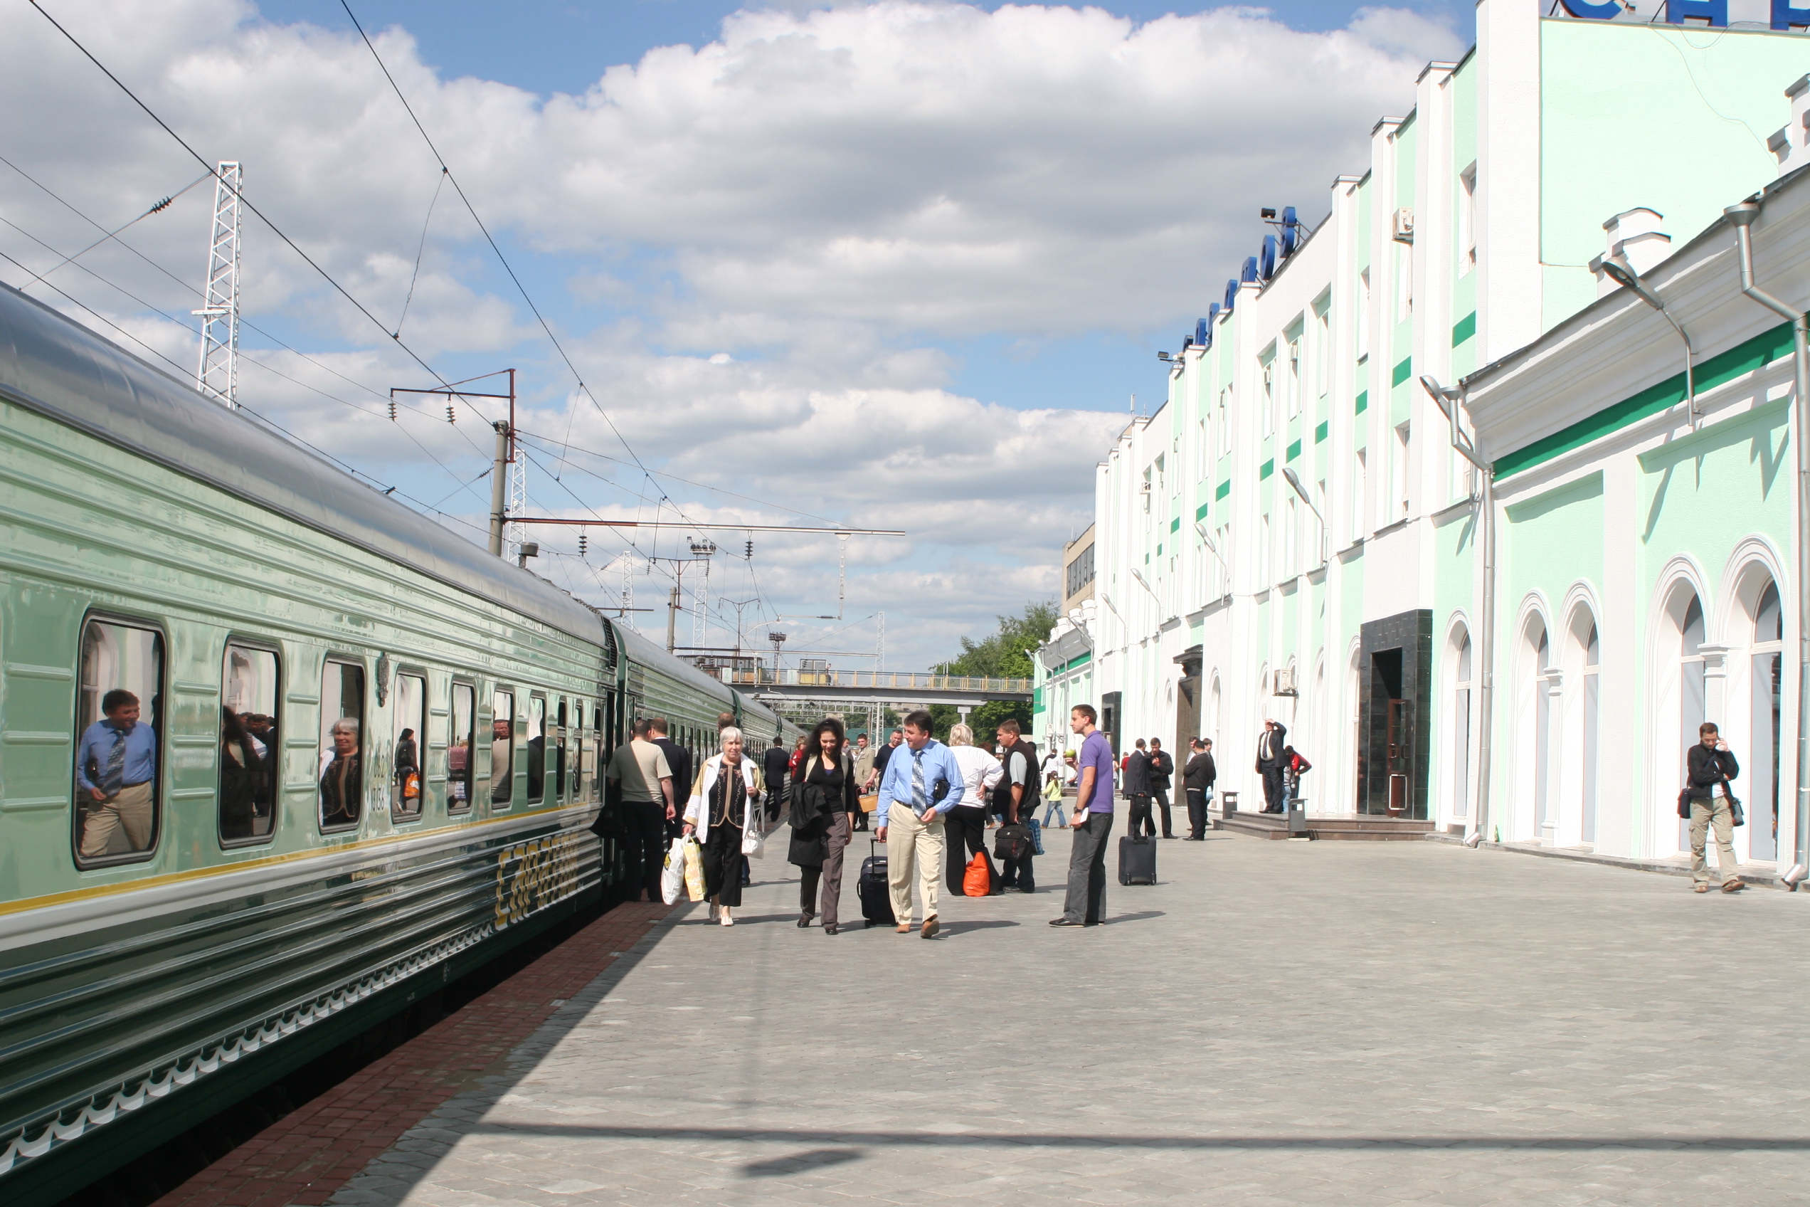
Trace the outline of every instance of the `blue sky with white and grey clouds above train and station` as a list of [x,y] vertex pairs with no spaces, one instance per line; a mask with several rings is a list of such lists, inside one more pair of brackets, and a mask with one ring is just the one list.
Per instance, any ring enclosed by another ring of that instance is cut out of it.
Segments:
[[[1256,210],[1318,221],[1472,34],[1437,2],[357,0],[380,67],[328,0],[43,7],[244,163],[248,411],[481,541],[498,404],[389,391],[516,367],[534,514],[905,530],[534,534],[655,637],[708,536],[681,646],[780,628],[862,670],[1059,594]],[[31,5],[0,38],[0,279],[192,376],[203,165]]]

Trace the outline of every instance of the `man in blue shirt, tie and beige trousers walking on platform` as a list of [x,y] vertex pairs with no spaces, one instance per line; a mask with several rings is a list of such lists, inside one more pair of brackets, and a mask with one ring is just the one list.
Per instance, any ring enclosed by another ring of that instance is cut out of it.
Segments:
[[874,838],[887,845],[887,889],[900,934],[910,934],[910,881],[923,894],[923,937],[934,939],[938,878],[943,872],[943,818],[961,803],[961,767],[930,737],[930,713],[905,715],[905,746],[892,751],[880,776]]

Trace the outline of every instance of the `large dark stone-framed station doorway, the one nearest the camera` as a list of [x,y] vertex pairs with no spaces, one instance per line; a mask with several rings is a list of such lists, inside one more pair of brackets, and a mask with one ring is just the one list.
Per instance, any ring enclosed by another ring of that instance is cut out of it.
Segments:
[[1363,626],[1358,811],[1426,818],[1428,691],[1434,613],[1419,608]]

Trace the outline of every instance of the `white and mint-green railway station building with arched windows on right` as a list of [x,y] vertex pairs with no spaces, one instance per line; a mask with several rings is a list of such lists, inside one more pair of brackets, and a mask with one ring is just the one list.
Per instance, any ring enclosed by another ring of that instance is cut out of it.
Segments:
[[[1738,852],[1790,865],[1792,338],[1741,293],[1723,210],[1763,194],[1759,282],[1810,302],[1810,9],[1645,9],[1482,0],[1367,165],[1253,223],[1166,404],[1097,469],[1095,606],[1041,651],[1053,684],[1086,637],[1115,744],[1209,737],[1253,809],[1274,718],[1309,814],[1464,831],[1488,670],[1484,838],[1676,856],[1710,718]],[[1461,396],[1493,503],[1428,385]]]

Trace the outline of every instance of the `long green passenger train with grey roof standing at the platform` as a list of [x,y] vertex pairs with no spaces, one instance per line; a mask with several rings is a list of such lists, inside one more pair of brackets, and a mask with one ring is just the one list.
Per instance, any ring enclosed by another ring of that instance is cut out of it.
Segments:
[[0,1202],[599,903],[635,717],[795,731],[4,286],[0,525]]

